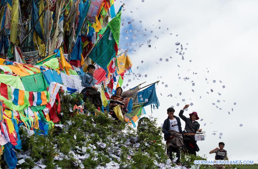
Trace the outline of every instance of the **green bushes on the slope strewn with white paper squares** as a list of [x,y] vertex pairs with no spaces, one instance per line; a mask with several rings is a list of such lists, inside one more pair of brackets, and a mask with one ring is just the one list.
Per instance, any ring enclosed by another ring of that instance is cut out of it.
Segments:
[[[63,128],[54,127],[48,135],[34,134],[28,137],[24,127],[20,127],[23,143],[20,152],[26,152],[29,157],[19,167],[33,168],[34,162],[41,161],[46,168],[54,168],[56,165],[61,168],[79,168],[80,164],[85,168],[96,168],[112,160],[120,168],[153,169],[157,168],[157,163],[167,163],[168,156],[161,127],[157,127],[157,119],[143,118],[135,130],[126,122],[114,121],[107,113],[97,111],[87,100],[83,103],[85,114],[77,110],[70,112],[71,107],[82,103],[81,98],[82,95],[78,93],[65,95],[60,92],[62,113],[58,116]],[[88,112],[96,112],[96,116],[88,116]],[[106,146],[101,148],[97,146],[98,142]],[[82,147],[87,148],[86,152],[82,152]],[[74,156],[83,156],[85,153],[89,157],[84,160]],[[62,156],[62,160],[54,160],[55,156]],[[193,165],[194,160],[200,159],[205,158],[187,154],[181,157],[182,164],[188,167]],[[200,166],[200,169],[204,167],[207,166]]]

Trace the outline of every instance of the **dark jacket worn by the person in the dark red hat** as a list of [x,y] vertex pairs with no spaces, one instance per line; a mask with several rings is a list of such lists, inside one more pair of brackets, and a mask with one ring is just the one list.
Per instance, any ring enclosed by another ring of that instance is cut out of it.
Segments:
[[197,121],[192,122],[192,120],[185,117],[183,113],[184,111],[180,110],[179,117],[185,121],[185,129],[183,133],[196,133],[196,131],[200,128],[200,124]]

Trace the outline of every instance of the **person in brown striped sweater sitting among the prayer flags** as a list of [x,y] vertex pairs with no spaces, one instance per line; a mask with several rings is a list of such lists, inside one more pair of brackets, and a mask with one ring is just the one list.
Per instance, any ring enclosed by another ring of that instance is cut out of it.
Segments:
[[114,107],[119,105],[121,107],[122,114],[124,115],[127,111],[125,105],[124,105],[124,98],[121,97],[121,93],[123,92],[123,89],[121,87],[116,88],[116,95],[113,95],[110,97],[110,103],[109,103],[109,114],[115,118],[116,120],[119,120],[116,116],[116,113],[114,112]]

